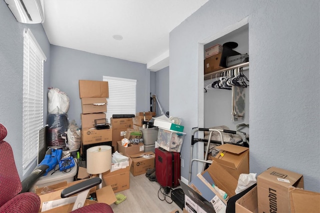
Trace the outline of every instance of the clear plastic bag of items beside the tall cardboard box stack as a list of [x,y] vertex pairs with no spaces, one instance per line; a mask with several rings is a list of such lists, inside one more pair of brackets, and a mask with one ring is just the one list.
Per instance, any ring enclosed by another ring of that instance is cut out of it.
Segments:
[[76,125],[74,120],[70,121],[66,136],[68,139],[68,143],[67,143],[68,149],[78,150],[81,145],[81,130]]

